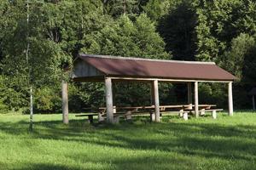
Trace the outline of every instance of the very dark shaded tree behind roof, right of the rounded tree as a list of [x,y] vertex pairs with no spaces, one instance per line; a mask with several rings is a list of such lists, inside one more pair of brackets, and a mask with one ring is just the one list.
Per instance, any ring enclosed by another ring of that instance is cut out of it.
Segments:
[[173,59],[195,60],[195,8],[188,0],[174,2],[177,4],[160,18],[158,31]]

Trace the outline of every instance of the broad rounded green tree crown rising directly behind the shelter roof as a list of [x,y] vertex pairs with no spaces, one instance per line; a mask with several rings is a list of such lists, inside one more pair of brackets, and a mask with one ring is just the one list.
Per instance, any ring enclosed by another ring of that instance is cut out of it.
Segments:
[[165,42],[155,31],[154,23],[146,14],[141,14],[133,22],[126,15],[105,26],[90,48],[82,48],[84,53],[112,54],[120,56],[169,59],[165,52]]

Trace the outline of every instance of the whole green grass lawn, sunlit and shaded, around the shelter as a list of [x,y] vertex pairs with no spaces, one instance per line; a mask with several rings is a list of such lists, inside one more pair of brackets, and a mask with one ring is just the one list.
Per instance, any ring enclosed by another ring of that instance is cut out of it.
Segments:
[[28,133],[28,116],[0,115],[0,169],[256,169],[256,113],[119,125],[34,119]]

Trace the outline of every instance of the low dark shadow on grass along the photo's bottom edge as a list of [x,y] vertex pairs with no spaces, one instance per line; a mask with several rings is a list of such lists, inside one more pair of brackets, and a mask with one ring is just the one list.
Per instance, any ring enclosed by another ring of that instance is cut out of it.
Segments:
[[[84,157],[80,155],[79,157]],[[84,161],[84,160],[81,160]],[[105,164],[105,167],[103,167]],[[189,166],[188,166],[189,165]],[[188,168],[189,167],[189,168]],[[189,159],[175,158],[175,157],[166,157],[166,156],[134,156],[129,158],[119,158],[115,161],[106,163],[99,161],[90,161],[84,162],[84,166],[76,165],[56,165],[52,163],[26,163],[22,167],[15,168],[15,170],[98,170],[98,169],[139,169],[139,170],[148,170],[148,169],[195,169],[195,163]]]

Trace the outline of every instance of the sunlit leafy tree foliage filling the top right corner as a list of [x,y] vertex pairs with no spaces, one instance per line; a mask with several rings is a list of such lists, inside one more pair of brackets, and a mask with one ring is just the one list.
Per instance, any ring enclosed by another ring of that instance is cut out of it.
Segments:
[[241,32],[255,33],[256,4],[251,0],[195,1],[198,14],[199,60],[219,61],[230,42]]

